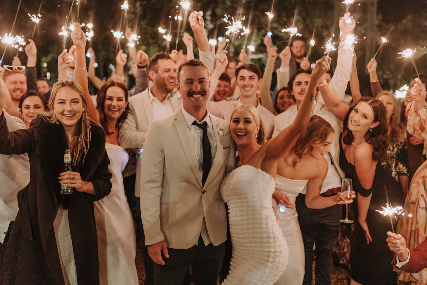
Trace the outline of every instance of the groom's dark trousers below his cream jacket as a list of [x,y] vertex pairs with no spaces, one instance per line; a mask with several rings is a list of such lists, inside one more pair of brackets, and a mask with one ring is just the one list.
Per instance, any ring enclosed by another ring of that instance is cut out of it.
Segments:
[[194,285],[216,285],[224,257],[224,244],[205,246],[200,236],[198,244],[187,250],[168,247],[169,258],[165,258],[163,252],[161,254],[166,264],[154,264],[155,285],[184,284],[190,264]]

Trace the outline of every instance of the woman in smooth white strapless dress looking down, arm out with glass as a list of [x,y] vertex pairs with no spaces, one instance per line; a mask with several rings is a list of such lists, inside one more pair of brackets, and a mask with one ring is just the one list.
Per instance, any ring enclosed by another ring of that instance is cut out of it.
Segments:
[[[304,243],[295,209],[298,194],[305,194],[305,204],[311,209],[343,205],[348,200],[339,193],[329,197],[320,196],[320,189],[328,172],[328,162],[324,155],[330,152],[333,137],[332,126],[322,117],[312,116],[292,149],[279,160],[273,205],[280,209],[276,212],[277,222],[288,244],[292,262],[275,285],[303,283]],[[312,263],[308,263],[311,267]]]

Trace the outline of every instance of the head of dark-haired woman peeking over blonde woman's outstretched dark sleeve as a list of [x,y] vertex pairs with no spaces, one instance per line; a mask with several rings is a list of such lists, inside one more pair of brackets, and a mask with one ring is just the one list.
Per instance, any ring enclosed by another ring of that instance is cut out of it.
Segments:
[[42,94],[37,91],[29,91],[19,100],[18,110],[21,119],[28,129],[31,121],[37,116],[38,113],[47,109],[47,100]]

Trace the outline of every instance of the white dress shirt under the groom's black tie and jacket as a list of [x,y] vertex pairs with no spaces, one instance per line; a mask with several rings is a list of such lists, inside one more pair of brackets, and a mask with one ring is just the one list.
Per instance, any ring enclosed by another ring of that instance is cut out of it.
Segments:
[[[203,176],[203,147],[202,147],[203,130],[198,126],[193,125],[193,122],[196,121],[199,124],[206,122],[208,124],[207,132],[208,132],[209,144],[211,145],[211,155],[212,155],[212,162],[213,162],[213,157],[215,157],[215,154],[216,154],[216,138],[215,138],[215,133],[213,131],[211,117],[209,117],[209,112],[206,111],[205,118],[199,122],[192,115],[188,114],[188,112],[184,110],[183,106],[181,106],[181,110],[182,110],[182,114],[184,115],[185,123],[187,124],[187,127],[188,127],[188,133],[190,135],[194,154],[196,155],[197,162],[199,162],[200,177],[202,177]],[[208,245],[211,243],[211,239],[209,238],[208,229],[206,227],[205,220],[203,220],[203,226],[200,231],[200,234],[202,235],[202,239],[205,245]],[[198,242],[196,242],[196,245],[197,243]]]

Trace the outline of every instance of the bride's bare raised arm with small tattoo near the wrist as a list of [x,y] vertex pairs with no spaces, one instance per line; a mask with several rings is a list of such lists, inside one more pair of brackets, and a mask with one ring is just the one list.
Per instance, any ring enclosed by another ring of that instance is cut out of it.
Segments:
[[307,127],[316,97],[316,82],[329,70],[330,61],[329,56],[324,56],[316,62],[295,120],[275,138],[265,143],[266,159],[275,160],[284,156],[295,144],[301,132]]

